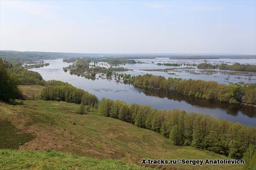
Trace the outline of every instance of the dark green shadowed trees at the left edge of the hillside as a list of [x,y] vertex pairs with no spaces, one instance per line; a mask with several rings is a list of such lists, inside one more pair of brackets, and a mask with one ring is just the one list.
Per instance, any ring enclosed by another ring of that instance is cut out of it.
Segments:
[[6,64],[0,59],[0,100],[9,101],[18,95],[18,82],[7,71]]

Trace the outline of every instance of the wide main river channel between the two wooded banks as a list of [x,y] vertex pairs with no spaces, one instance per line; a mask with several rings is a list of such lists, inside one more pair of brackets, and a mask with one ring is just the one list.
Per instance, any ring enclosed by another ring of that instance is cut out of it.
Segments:
[[[62,59],[48,60],[45,62],[50,63],[50,65],[30,70],[39,72],[45,80],[54,79],[68,82],[73,86],[96,95],[99,99],[105,97],[124,101],[128,104],[150,105],[155,109],[182,109],[186,112],[197,112],[216,118],[256,126],[256,107],[220,103],[163,91],[150,92],[132,85],[116,83],[114,80],[110,81],[99,78],[92,81],[84,77],[70,75],[69,72],[64,72],[63,67],[67,67],[70,63],[64,63]],[[191,75],[190,78],[193,79],[193,77],[197,76]],[[180,77],[182,78],[182,76]]]

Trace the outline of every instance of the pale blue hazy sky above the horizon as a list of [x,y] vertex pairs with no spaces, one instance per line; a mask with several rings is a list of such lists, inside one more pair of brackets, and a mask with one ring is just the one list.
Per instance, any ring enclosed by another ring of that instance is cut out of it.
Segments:
[[0,50],[256,54],[256,1],[0,0]]

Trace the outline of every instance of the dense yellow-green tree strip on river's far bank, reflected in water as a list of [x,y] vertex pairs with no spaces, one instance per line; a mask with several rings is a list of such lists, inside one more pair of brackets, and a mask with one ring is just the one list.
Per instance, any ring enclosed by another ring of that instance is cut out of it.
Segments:
[[182,80],[181,78],[164,78],[156,75],[138,75],[131,78],[131,83],[145,89],[164,89],[193,95],[198,98],[213,99],[229,103],[256,104],[256,84],[241,86],[239,84],[218,84],[215,81]]

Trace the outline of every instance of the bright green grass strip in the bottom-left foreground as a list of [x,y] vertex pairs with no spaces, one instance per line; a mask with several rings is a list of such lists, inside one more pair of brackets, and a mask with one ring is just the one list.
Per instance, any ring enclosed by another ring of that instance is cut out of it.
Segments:
[[0,150],[2,170],[153,170],[122,161],[80,157],[53,150]]

